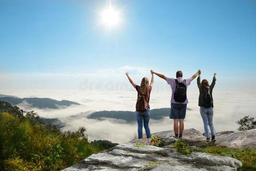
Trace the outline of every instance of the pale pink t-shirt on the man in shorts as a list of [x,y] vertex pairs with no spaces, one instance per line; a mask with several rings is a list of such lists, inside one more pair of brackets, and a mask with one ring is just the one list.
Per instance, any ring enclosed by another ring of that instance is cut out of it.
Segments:
[[[191,83],[191,78],[188,79],[183,79],[181,77],[177,78],[178,82],[181,83],[184,81],[186,86],[189,86]],[[174,78],[167,78],[167,83],[170,84],[171,89],[172,89],[172,97],[171,97],[171,103],[178,103],[178,104],[187,104],[188,100],[186,99],[183,103],[177,102],[174,100],[174,92],[175,92],[175,88],[176,88],[176,82]]]

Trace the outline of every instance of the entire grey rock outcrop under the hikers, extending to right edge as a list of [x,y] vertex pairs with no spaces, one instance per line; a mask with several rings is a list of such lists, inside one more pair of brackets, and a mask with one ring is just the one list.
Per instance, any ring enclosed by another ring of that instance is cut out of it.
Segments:
[[[235,148],[256,148],[256,129],[245,132],[220,132],[215,143],[207,143],[196,129],[185,129],[183,140],[191,146],[222,145]],[[192,152],[184,156],[171,148],[175,143],[174,132],[157,132],[164,141],[162,148],[152,145],[136,146],[137,140],[117,145],[103,152],[92,154],[69,170],[237,170],[242,163],[235,158],[212,156],[207,153]]]

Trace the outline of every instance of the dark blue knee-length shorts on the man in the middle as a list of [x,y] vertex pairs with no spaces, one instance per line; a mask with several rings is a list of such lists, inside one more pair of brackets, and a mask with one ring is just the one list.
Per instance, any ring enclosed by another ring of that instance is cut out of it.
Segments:
[[170,119],[185,119],[187,104],[171,103]]

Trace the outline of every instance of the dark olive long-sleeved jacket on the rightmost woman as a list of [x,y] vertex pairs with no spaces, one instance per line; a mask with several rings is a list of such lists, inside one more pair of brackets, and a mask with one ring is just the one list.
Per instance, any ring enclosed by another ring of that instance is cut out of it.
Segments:
[[208,93],[208,89],[210,88],[210,95],[211,95],[211,106],[214,107],[213,105],[213,98],[212,98],[212,89],[215,86],[215,82],[216,82],[216,78],[214,76],[214,78],[212,79],[212,83],[210,87],[204,87],[201,86],[201,81],[200,81],[200,75],[198,76],[198,88],[199,88],[199,100],[198,100],[198,105],[200,107],[204,106],[204,97],[206,96],[206,94]]

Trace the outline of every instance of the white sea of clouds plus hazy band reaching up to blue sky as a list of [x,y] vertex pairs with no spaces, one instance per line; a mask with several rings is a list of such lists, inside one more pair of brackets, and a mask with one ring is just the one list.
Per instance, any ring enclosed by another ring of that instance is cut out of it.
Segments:
[[[174,68],[173,68],[174,70]],[[184,78],[189,78],[195,71],[184,71]],[[86,116],[94,111],[135,111],[137,92],[128,82],[125,72],[131,74],[135,83],[140,83],[141,77],[150,80],[149,68],[123,66],[119,68],[102,69],[93,73],[30,73],[30,74],[1,74],[1,94],[18,97],[50,97],[56,100],[71,100],[81,105],[68,108],[37,109],[22,103],[19,107],[25,111],[36,111],[40,116],[58,118],[66,124],[62,131],[86,127],[90,140],[106,139],[116,143],[124,143],[136,137],[137,124],[127,124],[116,119],[94,120]],[[174,74],[174,71],[168,71]],[[166,71],[165,73],[168,74]],[[225,76],[225,77],[224,77]],[[203,72],[202,78],[212,80],[212,73]],[[256,117],[255,78],[231,79],[225,74],[217,73],[214,88],[214,125],[216,131],[237,130],[235,122],[243,116]],[[198,87],[196,80],[188,87],[188,108],[185,128],[195,128],[203,131],[203,121],[198,107]],[[151,92],[151,109],[170,108],[170,86],[155,76]],[[151,132],[172,129],[172,120],[168,117],[162,120],[150,120]]]

